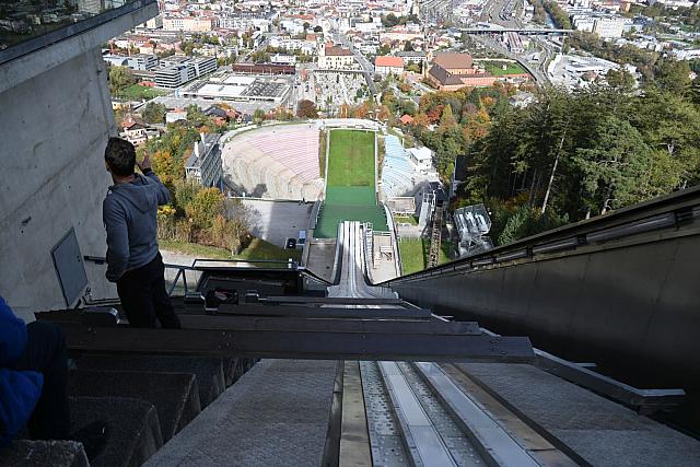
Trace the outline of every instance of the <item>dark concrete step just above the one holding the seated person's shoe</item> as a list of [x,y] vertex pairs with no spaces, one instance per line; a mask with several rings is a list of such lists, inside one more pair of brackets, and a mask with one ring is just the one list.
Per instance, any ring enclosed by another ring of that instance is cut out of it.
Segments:
[[72,370],[68,380],[68,394],[128,397],[151,402],[158,410],[164,442],[201,410],[197,381],[191,373]]

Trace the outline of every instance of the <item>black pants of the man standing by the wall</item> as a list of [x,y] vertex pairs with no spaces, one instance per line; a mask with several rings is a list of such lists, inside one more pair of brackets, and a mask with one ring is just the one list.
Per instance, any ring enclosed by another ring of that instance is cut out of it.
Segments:
[[158,318],[162,327],[179,329],[179,319],[165,291],[164,275],[159,253],[151,262],[127,271],[117,281],[117,293],[131,327],[154,328]]

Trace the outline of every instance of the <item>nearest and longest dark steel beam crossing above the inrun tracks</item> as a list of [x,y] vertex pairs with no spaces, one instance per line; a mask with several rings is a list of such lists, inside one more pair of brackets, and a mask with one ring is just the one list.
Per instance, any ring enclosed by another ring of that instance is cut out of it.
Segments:
[[313,360],[530,362],[529,339],[331,330],[137,329],[57,322],[71,353]]

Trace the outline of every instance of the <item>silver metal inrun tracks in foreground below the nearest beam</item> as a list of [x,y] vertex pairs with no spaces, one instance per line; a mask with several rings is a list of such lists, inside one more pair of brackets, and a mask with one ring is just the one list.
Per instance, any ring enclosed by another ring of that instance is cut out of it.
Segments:
[[457,365],[338,362],[324,465],[586,465]]

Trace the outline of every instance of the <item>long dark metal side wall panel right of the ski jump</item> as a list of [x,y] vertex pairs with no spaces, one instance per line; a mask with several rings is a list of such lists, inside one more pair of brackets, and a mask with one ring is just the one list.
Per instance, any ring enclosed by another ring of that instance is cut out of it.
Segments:
[[699,271],[695,234],[392,287],[630,382],[688,386],[700,382]]

